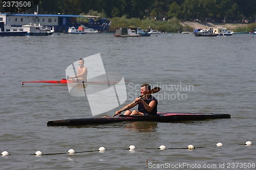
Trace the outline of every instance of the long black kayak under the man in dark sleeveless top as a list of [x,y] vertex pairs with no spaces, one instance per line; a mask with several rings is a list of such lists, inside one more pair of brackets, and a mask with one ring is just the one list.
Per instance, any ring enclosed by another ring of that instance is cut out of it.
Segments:
[[137,122],[137,121],[153,121],[172,123],[183,120],[204,120],[204,119],[219,119],[230,118],[230,114],[215,114],[215,113],[158,113],[148,116],[125,116],[119,115],[116,117],[90,117],[90,118],[74,118],[62,120],[49,120],[47,126],[84,126],[84,125],[101,125],[119,122]]

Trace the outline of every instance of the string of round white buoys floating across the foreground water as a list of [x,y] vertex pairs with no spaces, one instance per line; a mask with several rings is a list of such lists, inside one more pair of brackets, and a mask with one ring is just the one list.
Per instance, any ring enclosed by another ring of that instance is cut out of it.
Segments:
[[[246,145],[248,147],[250,147],[252,145],[251,141],[246,141],[244,144],[238,144],[238,145]],[[221,142],[218,142],[216,144],[216,147],[223,147],[223,144]],[[197,147],[197,149],[202,149],[202,148],[207,148],[207,147]],[[180,149],[187,149],[187,150],[195,150],[196,147],[194,147],[194,145],[189,144],[187,146],[187,148],[166,148],[165,145],[160,145],[159,148],[146,148],[145,150],[160,150],[160,151],[164,151],[164,150],[180,150]],[[46,153],[43,154],[41,151],[36,151],[34,154],[30,154],[30,155],[35,155],[35,156],[43,156],[43,155],[61,155],[61,154],[69,154],[69,155],[74,155],[76,153],[89,153],[89,152],[99,152],[99,153],[104,153],[105,151],[115,151],[115,150],[129,150],[130,152],[135,152],[136,147],[134,145],[130,145],[129,148],[125,148],[125,149],[105,149],[104,147],[100,147],[98,150],[91,150],[91,151],[75,151],[73,149],[70,149],[68,152],[62,152],[62,153]],[[141,152],[141,150],[140,150]],[[142,151],[142,152],[146,152],[146,151]],[[7,151],[3,151],[2,152],[2,157],[7,157],[11,154],[9,154]]]

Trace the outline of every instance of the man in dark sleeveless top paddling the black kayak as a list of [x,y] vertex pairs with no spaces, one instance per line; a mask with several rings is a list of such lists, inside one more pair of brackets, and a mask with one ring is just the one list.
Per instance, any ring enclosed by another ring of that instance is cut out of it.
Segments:
[[[157,114],[157,99],[151,95],[146,94],[151,90],[151,86],[149,84],[142,84],[140,87],[141,95],[134,100],[133,103],[126,105],[121,110],[116,111],[115,115],[121,114],[122,111],[125,111],[123,115],[153,115]],[[146,95],[145,95],[146,94]],[[144,97],[142,97],[144,95]],[[129,110],[138,105],[138,110]]]

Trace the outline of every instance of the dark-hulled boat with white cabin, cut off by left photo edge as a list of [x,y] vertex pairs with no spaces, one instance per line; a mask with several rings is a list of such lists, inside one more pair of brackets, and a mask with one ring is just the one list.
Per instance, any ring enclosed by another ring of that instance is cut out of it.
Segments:
[[0,22],[0,36],[25,36],[27,31],[22,27],[12,27],[5,25],[4,22]]

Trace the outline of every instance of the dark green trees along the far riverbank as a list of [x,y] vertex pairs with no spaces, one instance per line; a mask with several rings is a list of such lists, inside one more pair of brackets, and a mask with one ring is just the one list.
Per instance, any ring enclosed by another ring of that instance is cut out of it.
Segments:
[[[36,5],[40,14],[90,14],[101,17],[254,22],[255,0],[30,0],[28,8],[3,8],[0,12],[33,13]],[[4,2],[4,0],[3,0]]]

